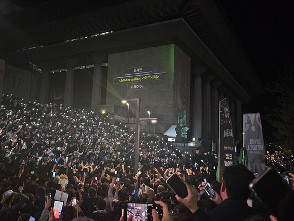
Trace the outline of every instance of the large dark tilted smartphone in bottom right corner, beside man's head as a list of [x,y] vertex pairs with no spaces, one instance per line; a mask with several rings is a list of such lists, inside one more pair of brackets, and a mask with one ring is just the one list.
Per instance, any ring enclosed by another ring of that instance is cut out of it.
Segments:
[[275,168],[267,167],[249,187],[279,220],[283,210],[294,208],[293,203],[285,202],[285,198],[293,197],[291,187]]

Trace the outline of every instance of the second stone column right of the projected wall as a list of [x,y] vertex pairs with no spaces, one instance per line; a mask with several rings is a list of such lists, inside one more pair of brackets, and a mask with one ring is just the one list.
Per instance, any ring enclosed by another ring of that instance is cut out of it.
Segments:
[[203,88],[203,116],[202,116],[202,147],[205,150],[211,151],[211,96],[210,96],[210,81],[214,78],[212,74],[205,73],[202,79],[204,80]]

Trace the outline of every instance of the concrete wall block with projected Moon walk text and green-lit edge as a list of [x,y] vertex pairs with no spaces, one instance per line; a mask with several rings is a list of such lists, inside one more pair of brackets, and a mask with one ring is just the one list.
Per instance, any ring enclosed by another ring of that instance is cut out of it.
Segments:
[[[183,82],[188,87],[185,93]],[[155,127],[156,133],[163,134],[177,124],[186,93],[189,114],[190,58],[174,44],[108,55],[106,104],[122,106],[123,99],[140,98],[140,117],[149,117],[150,111],[151,117],[158,118],[149,128],[152,132]],[[130,102],[130,118],[135,117],[135,105]]]

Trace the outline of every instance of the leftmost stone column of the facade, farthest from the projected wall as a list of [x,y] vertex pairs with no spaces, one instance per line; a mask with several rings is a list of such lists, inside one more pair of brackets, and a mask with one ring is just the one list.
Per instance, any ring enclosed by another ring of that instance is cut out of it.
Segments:
[[43,72],[43,78],[41,79],[41,88],[40,88],[40,103],[48,103],[48,92],[49,92],[49,71],[52,69],[52,64],[47,64],[40,62],[38,67]]

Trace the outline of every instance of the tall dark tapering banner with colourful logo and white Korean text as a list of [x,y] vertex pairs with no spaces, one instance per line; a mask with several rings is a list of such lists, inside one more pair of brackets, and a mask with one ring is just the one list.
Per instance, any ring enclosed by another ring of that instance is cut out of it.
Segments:
[[218,136],[218,173],[217,180],[222,182],[225,167],[234,165],[234,138],[231,114],[227,99],[219,102],[219,136]]

